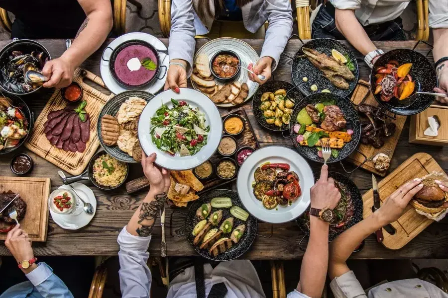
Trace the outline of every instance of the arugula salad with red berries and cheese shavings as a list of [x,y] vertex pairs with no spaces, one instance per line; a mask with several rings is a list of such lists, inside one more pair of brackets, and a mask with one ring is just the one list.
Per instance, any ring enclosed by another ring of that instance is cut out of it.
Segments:
[[160,150],[170,155],[194,155],[207,145],[210,126],[199,108],[192,108],[185,101],[171,99],[171,108],[162,104],[151,118],[151,140]]

